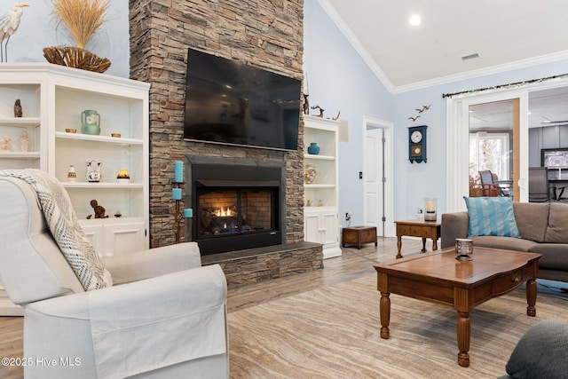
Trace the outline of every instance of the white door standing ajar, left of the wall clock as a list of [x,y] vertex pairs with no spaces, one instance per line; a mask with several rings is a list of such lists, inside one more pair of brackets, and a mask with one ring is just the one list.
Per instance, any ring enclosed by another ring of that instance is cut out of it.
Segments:
[[365,141],[365,225],[376,226],[378,235],[384,236],[384,130],[367,129]]

